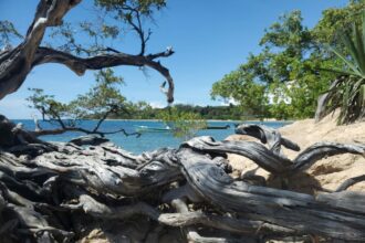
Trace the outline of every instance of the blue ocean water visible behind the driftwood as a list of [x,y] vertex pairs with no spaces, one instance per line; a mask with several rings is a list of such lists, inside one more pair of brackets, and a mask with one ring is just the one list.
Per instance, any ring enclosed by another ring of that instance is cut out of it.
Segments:
[[[31,119],[15,119],[14,123],[22,123],[24,127],[29,130],[34,130],[34,123]],[[92,129],[96,120],[83,120],[79,126],[84,128]],[[211,136],[216,140],[222,140],[229,135],[234,134],[234,124],[237,122],[208,122],[210,126],[226,126],[230,125],[229,129],[207,129],[199,130],[196,136]],[[246,124],[260,124],[259,122],[247,122]],[[264,122],[267,126],[279,128],[284,125],[290,124],[290,122]],[[54,125],[51,125],[45,122],[40,122],[40,125],[43,129],[53,128]],[[148,127],[160,127],[164,128],[164,124],[155,120],[105,120],[101,126],[103,131],[113,131],[121,128],[124,128],[127,133],[135,131],[137,126],[148,126]],[[65,133],[62,135],[51,135],[42,136],[41,138],[48,141],[69,141],[72,138],[82,136],[82,133]],[[177,148],[182,140],[175,138],[171,133],[143,133],[140,137],[135,136],[124,136],[122,133],[107,135],[114,144],[121,146],[127,151],[133,154],[140,154],[143,151],[150,151],[161,147],[171,147]]]

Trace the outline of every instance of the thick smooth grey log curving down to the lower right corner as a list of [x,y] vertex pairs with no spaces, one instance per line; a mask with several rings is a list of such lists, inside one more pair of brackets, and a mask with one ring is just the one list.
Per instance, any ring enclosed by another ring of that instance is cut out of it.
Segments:
[[223,210],[286,225],[302,234],[348,241],[365,240],[365,210],[353,207],[353,203],[361,204],[365,200],[364,193],[354,193],[356,197],[352,197],[352,200],[344,200],[344,203],[337,205],[323,197],[316,199],[307,194],[234,181],[209,157],[191,149],[182,148],[177,156],[189,184],[207,202]]

